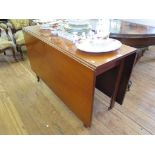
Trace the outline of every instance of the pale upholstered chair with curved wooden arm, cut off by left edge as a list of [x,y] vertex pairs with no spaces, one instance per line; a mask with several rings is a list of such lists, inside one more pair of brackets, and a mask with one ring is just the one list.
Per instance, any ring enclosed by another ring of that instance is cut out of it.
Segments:
[[[2,32],[3,35],[2,35]],[[0,53],[4,53],[6,55],[6,50],[11,49],[13,53],[14,59],[16,59],[16,46],[14,42],[11,40],[11,37],[8,34],[7,26],[4,24],[0,24]]]

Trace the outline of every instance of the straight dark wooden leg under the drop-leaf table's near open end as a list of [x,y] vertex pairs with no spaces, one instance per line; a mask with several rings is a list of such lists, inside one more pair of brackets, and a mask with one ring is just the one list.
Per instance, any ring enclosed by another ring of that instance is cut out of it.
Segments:
[[118,88],[121,81],[123,68],[124,68],[124,59],[120,62],[120,65],[119,65],[119,70],[115,81],[115,87],[114,87],[113,95],[111,97],[110,106],[108,110],[112,109],[115,105],[115,100],[118,93]]

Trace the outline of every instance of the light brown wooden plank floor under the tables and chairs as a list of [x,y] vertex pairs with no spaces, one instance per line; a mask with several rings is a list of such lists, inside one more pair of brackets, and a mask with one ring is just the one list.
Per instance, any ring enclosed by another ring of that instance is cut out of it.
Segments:
[[[108,111],[109,98],[95,91],[91,128],[44,84],[29,60],[0,55],[0,134],[155,134],[155,47],[136,64],[123,106]],[[67,91],[67,90],[66,90]]]

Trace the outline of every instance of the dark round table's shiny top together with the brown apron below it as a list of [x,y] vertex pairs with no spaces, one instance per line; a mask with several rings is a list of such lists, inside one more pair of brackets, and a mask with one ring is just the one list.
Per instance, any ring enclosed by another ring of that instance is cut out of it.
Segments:
[[128,46],[148,47],[155,45],[155,27],[113,19],[110,21],[110,37]]

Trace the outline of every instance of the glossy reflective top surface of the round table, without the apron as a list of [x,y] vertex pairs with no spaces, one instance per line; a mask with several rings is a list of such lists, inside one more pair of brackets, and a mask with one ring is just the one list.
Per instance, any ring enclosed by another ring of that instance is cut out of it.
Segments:
[[110,21],[110,37],[117,37],[117,38],[155,37],[155,27],[148,25],[138,24],[138,22],[136,23],[136,20],[134,20],[134,22],[129,22],[125,20],[113,19]]

